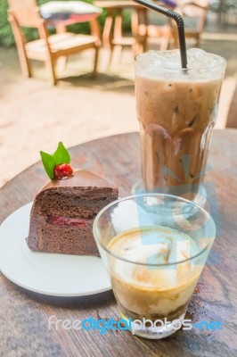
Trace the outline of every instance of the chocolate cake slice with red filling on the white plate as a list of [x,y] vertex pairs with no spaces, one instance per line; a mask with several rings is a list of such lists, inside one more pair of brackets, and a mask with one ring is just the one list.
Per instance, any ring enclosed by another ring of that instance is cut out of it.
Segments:
[[99,255],[92,227],[95,215],[118,199],[118,187],[86,170],[53,179],[37,194],[27,243],[34,251]]

